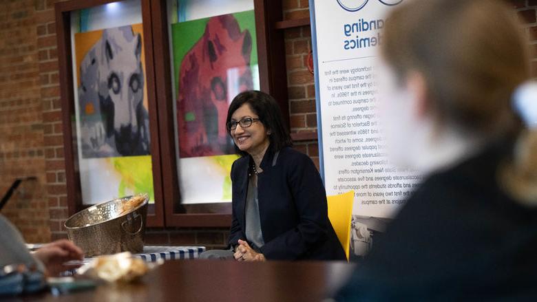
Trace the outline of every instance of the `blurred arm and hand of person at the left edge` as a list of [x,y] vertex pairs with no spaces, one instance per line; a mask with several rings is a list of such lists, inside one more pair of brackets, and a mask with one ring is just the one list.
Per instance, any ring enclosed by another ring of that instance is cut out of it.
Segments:
[[56,277],[65,270],[76,268],[65,264],[67,261],[82,260],[83,252],[78,246],[66,239],[45,244],[35,252],[26,248],[21,233],[0,215],[0,268],[11,264],[24,264]]

